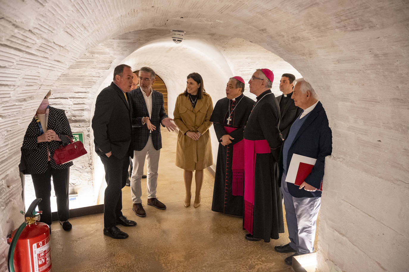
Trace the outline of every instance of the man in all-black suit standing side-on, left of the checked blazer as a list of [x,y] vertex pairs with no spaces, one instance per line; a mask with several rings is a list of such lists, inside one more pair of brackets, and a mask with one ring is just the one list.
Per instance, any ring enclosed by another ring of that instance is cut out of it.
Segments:
[[121,64],[114,69],[114,81],[97,97],[92,129],[95,152],[105,169],[107,188],[104,196],[103,234],[125,239],[128,234],[116,226],[135,226],[136,222],[122,215],[122,191],[128,178],[129,156],[133,156],[131,104],[127,93],[132,88],[133,72]]

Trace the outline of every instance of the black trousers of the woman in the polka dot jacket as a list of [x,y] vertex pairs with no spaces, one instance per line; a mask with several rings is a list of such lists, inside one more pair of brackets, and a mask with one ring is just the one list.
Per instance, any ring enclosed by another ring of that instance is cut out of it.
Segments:
[[70,167],[65,169],[54,169],[48,163],[47,171],[44,174],[31,174],[33,179],[36,197],[43,199],[38,204],[38,209],[43,213],[40,222],[51,225],[51,177],[54,183],[55,196],[57,197],[58,220],[67,221],[70,218],[70,208],[68,205],[68,184],[70,181]]

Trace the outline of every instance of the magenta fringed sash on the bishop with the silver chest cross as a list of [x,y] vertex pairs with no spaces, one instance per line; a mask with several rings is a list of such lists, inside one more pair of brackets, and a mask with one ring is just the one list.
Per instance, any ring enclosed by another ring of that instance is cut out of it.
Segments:
[[[227,133],[231,133],[237,128],[229,128],[225,126]],[[227,149],[227,151],[229,151]],[[231,184],[232,195],[243,196],[244,190],[244,141],[241,140],[233,145],[233,159],[231,170],[233,172],[233,179]]]

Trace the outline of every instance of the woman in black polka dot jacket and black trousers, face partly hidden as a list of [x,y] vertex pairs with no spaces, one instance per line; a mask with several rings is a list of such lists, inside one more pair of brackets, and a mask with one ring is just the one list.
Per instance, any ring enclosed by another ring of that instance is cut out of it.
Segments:
[[24,135],[22,148],[25,151],[26,164],[33,179],[36,197],[43,199],[38,204],[38,208],[43,211],[40,221],[47,223],[49,226],[51,225],[50,196],[52,177],[60,225],[63,226],[64,230],[70,230],[72,225],[68,222],[70,217],[68,182],[72,162],[56,165],[53,155],[54,150],[60,144],[69,144],[68,137],[73,138],[73,135],[65,112],[48,105],[49,95],[51,95],[51,91],[44,97],[36,115],[29,124]]

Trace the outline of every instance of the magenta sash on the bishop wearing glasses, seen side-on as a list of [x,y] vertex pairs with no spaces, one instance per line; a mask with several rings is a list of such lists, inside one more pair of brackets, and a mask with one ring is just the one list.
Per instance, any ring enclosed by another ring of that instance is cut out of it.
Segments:
[[244,139],[244,219],[243,227],[253,234],[254,210],[254,170],[256,168],[256,154],[270,153],[267,140]]

